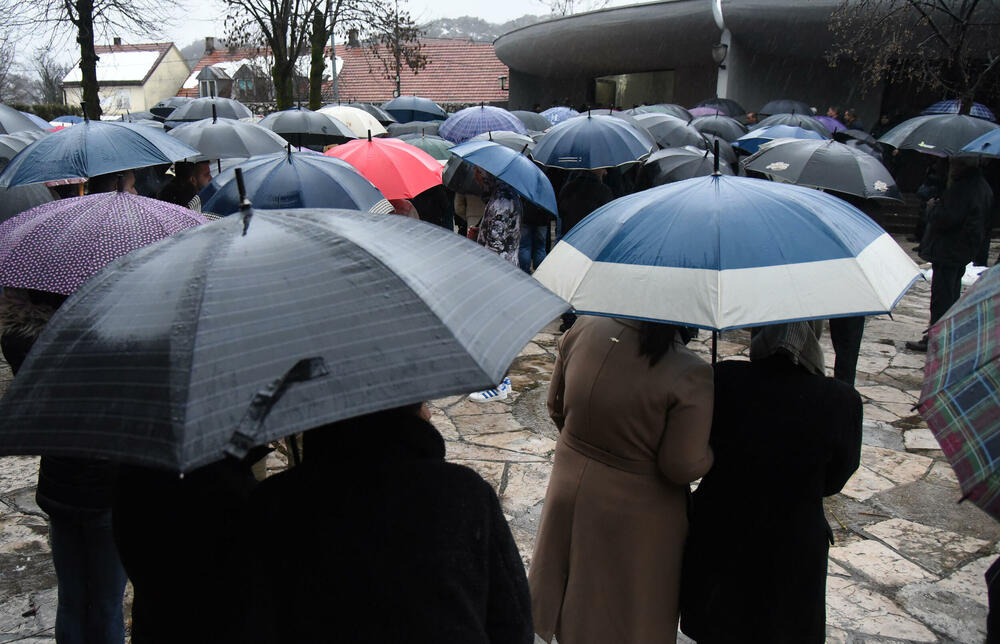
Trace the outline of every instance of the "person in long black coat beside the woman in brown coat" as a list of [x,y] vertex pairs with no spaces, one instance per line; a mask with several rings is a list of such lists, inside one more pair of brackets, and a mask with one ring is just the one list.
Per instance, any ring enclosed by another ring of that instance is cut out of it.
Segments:
[[821,644],[823,497],[860,464],[861,398],[823,374],[822,325],[755,330],[715,367],[711,471],[693,495],[681,630],[698,644]]

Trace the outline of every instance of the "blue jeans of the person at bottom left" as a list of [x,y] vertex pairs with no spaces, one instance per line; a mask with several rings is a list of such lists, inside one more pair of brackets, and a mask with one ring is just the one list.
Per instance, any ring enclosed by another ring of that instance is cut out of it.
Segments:
[[125,569],[111,533],[111,511],[49,515],[52,561],[59,580],[56,641],[122,644]]

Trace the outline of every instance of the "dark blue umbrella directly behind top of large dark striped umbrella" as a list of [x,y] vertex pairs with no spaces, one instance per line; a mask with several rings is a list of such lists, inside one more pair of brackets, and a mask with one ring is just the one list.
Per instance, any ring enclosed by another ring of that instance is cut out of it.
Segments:
[[[247,196],[261,208],[371,210],[385,201],[382,193],[352,165],[322,154],[269,154],[236,167],[243,170]],[[240,209],[236,167],[224,171],[202,189],[202,210],[228,215]],[[389,210],[392,206],[383,209]]]

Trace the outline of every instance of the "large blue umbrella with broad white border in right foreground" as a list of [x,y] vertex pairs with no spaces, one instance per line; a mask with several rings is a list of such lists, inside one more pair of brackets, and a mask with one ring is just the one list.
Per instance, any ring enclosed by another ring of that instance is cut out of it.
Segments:
[[886,313],[920,270],[832,195],[711,176],[595,210],[534,276],[579,313],[722,331]]

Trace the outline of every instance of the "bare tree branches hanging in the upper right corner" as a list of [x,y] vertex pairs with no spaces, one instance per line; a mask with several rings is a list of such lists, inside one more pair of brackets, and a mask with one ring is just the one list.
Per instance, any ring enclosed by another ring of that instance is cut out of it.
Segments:
[[909,80],[961,101],[1000,85],[997,0],[844,0],[830,18],[830,64],[856,63],[864,87]]

